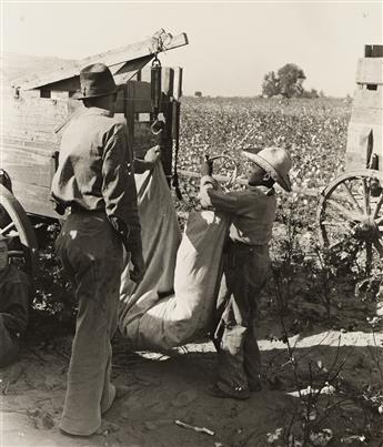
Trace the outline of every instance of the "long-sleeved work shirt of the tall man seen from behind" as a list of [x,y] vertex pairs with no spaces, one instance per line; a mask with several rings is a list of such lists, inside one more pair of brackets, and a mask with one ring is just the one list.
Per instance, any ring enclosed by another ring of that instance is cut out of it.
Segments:
[[104,210],[129,245],[141,245],[128,129],[112,112],[89,108],[72,119],[62,135],[51,193],[63,206]]

